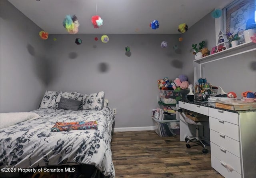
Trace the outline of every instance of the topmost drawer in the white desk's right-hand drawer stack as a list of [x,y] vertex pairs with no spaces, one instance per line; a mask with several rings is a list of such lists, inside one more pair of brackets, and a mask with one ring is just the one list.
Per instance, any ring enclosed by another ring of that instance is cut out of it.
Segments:
[[209,116],[239,125],[238,113],[209,108]]

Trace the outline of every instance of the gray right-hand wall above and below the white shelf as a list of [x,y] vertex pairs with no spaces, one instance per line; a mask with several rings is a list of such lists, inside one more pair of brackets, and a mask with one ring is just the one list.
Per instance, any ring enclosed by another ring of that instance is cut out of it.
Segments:
[[[206,15],[182,35],[182,73],[188,75],[194,82],[192,44],[202,40],[211,50],[216,46],[215,20],[210,14]],[[233,91],[241,98],[241,93],[247,90],[256,92],[256,53],[255,51],[218,60],[204,65],[203,76],[214,86],[221,86],[225,92]]]

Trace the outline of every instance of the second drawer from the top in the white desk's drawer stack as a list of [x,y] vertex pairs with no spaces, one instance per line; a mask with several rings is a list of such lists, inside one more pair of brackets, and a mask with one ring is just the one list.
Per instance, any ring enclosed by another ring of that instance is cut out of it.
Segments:
[[234,140],[240,141],[239,126],[231,124],[224,120],[209,117],[210,129],[219,132],[220,134],[226,135]]

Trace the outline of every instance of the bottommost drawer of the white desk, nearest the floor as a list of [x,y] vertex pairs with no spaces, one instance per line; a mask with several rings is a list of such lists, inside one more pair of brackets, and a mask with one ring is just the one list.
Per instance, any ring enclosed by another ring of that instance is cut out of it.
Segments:
[[215,156],[211,155],[212,168],[218,171],[225,178],[242,178],[242,175],[233,170],[229,172],[226,163],[218,160]]

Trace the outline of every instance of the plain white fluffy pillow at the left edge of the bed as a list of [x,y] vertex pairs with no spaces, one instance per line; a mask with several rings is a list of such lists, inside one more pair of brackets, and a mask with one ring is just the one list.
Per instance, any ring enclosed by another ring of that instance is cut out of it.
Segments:
[[0,113],[0,128],[6,128],[25,120],[38,119],[40,116],[34,112],[8,112]]

